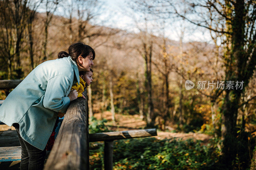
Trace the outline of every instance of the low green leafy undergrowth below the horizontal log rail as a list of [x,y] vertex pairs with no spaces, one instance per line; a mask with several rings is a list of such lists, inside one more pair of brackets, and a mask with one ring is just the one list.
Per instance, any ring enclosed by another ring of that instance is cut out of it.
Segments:
[[[90,150],[90,169],[103,167],[103,145]],[[212,145],[192,139],[186,141],[173,139],[157,140],[140,138],[114,142],[114,169],[223,169],[218,165],[218,155]],[[95,157],[97,156],[97,159]],[[93,160],[92,160],[93,158]],[[224,168],[225,169],[225,168]]]

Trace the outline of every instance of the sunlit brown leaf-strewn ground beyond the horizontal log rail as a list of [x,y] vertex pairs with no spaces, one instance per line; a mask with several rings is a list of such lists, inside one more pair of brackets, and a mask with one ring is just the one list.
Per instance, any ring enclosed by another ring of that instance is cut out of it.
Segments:
[[[96,113],[93,115],[98,120],[101,118],[100,113]],[[143,121],[139,115],[122,115],[116,114],[115,119],[116,123],[112,122],[111,112],[106,111],[103,113],[103,118],[107,119],[108,122],[105,125],[108,129],[113,131],[125,131],[125,130],[133,130],[133,129],[143,129],[146,126],[146,122]],[[174,130],[174,128],[167,126],[169,130]],[[182,140],[187,140],[189,138],[193,138],[194,140],[201,140],[203,144],[208,144],[209,140],[212,136],[203,134],[203,133],[173,133],[169,131],[159,131],[157,130],[157,139],[170,139],[170,138],[181,138]]]

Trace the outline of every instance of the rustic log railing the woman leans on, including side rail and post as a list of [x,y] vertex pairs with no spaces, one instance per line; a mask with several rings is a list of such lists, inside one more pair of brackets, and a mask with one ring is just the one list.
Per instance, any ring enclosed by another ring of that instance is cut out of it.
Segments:
[[[0,89],[15,88],[22,80],[0,80]],[[9,85],[7,85],[7,84]],[[89,170],[89,142],[104,141],[104,167],[113,168],[113,141],[137,137],[157,136],[156,129],[141,129],[90,134],[88,105],[77,98],[68,107],[44,170]]]

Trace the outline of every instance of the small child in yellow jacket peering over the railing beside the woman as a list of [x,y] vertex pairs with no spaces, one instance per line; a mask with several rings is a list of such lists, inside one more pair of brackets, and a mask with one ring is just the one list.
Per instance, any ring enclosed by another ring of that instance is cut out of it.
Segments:
[[[78,83],[72,85],[71,90],[76,90],[78,92],[78,96],[77,97],[84,97],[84,95],[82,94],[85,90],[85,88],[90,85],[92,83],[92,69],[90,69],[90,71],[79,71],[79,78],[80,78],[80,83],[78,85]],[[57,117],[57,121],[55,123],[54,129],[52,131],[52,134],[47,142],[46,145],[46,150],[49,151],[52,149],[52,146],[54,144],[55,141],[55,129],[58,126],[58,122],[59,122],[59,117],[62,118],[65,115],[65,113],[58,113],[58,117]]]

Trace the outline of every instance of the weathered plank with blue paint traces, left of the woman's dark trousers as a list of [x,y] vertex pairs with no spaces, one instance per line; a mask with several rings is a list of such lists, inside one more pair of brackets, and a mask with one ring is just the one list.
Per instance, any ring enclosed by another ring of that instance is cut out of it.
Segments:
[[0,147],[0,162],[21,159],[21,146]]

